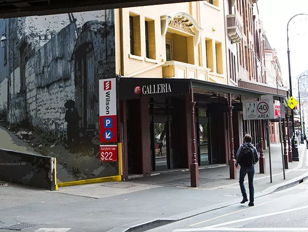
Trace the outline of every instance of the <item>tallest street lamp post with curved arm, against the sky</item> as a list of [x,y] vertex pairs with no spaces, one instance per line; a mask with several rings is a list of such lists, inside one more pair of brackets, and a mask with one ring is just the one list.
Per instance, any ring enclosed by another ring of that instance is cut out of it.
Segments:
[[[299,15],[307,15],[308,16],[308,14],[306,14],[306,13],[296,14],[292,18],[290,18],[290,20],[287,24],[288,66],[289,66],[289,82],[290,82],[290,94],[291,94],[291,96],[292,96],[292,77],[291,77],[290,47],[289,47],[289,23],[294,17],[299,16]],[[293,138],[292,138],[292,160],[293,161],[300,161],[299,149],[298,149],[298,146],[297,146],[297,139],[295,137],[294,111],[293,111],[293,109],[291,109],[291,117],[292,117],[292,135],[293,135]]]

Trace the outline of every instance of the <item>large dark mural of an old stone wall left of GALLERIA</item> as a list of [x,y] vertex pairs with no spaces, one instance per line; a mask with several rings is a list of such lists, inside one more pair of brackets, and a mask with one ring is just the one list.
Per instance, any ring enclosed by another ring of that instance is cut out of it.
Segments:
[[55,157],[58,182],[117,175],[117,162],[99,161],[114,10],[0,19],[0,33],[0,148]]

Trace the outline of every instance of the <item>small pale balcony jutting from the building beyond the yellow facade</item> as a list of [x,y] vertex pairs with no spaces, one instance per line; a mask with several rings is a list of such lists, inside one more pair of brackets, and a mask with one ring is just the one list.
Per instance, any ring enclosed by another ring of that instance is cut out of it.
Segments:
[[233,43],[239,43],[243,38],[243,19],[239,13],[227,15],[228,35]]

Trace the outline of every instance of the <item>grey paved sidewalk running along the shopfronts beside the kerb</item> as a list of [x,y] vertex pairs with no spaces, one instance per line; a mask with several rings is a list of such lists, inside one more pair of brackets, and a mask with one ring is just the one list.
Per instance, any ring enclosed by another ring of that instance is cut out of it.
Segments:
[[[273,183],[270,183],[267,150],[267,173],[259,174],[259,164],[256,166],[256,198],[308,177],[304,145],[299,147],[301,161],[289,163],[286,180],[283,179],[280,144],[272,144],[271,151]],[[144,225],[144,230],[138,229],[145,231],[238,204],[241,200],[238,180],[229,179],[229,167],[208,168],[199,173],[200,188],[197,189],[189,188],[189,172],[166,173],[127,182],[64,187],[56,192],[8,184],[0,187],[0,228],[19,222],[41,225],[26,230],[29,232],[39,228],[70,228],[69,232],[120,232],[134,231],[136,225]],[[298,178],[297,181],[292,180],[295,178]]]

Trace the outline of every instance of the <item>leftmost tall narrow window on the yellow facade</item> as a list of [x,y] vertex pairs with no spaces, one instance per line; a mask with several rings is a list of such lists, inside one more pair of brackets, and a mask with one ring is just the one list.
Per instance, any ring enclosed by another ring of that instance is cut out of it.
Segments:
[[141,56],[140,16],[130,15],[131,54]]

